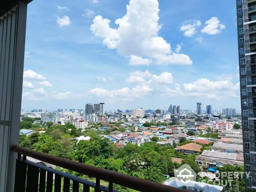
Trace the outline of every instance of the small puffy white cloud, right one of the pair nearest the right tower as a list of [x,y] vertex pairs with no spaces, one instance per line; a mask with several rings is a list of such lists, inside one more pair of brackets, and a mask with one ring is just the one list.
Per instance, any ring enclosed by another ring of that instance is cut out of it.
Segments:
[[207,33],[209,35],[216,35],[221,33],[222,29],[225,29],[226,26],[220,24],[218,17],[211,17],[209,20],[205,21],[206,26],[203,27],[201,33]]

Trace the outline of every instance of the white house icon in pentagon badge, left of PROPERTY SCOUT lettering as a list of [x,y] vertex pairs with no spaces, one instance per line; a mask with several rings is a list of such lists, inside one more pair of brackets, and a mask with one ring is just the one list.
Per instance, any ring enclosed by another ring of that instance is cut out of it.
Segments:
[[179,187],[184,185],[193,187],[195,185],[197,174],[195,171],[187,164],[182,165],[178,169],[174,169],[174,175],[176,179],[176,184]]

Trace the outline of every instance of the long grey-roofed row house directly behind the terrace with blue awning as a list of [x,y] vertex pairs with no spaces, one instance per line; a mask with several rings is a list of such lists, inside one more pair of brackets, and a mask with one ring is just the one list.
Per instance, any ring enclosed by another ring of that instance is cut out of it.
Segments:
[[234,143],[214,143],[210,147],[211,151],[243,154],[243,145]]

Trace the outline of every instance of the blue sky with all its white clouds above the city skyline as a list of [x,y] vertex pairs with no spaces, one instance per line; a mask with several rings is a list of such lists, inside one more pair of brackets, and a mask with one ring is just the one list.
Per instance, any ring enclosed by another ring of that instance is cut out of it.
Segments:
[[34,0],[25,51],[24,110],[240,111],[235,2]]

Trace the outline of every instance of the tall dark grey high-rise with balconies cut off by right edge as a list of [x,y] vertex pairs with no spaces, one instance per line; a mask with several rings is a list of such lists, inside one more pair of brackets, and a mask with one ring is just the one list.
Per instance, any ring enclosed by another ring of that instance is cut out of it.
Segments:
[[[241,91],[241,112],[243,129],[243,155],[245,171],[250,172],[245,177],[245,190],[256,188],[256,155],[255,155],[255,65],[256,65],[256,2],[237,0],[237,31],[238,31],[238,58]],[[234,66],[235,67],[235,66]],[[250,136],[249,136],[250,135]],[[248,179],[249,178],[249,179]]]

